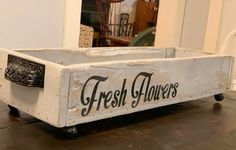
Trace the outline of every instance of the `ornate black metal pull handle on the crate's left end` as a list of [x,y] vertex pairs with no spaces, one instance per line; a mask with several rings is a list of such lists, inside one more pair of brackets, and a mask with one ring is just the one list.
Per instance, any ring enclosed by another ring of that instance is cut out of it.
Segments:
[[8,55],[5,79],[27,87],[44,87],[45,65]]

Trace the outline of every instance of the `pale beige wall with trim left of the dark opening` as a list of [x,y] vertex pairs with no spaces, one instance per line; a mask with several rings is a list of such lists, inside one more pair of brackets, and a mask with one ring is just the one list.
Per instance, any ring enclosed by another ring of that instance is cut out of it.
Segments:
[[81,0],[0,0],[0,47],[78,47],[80,11]]

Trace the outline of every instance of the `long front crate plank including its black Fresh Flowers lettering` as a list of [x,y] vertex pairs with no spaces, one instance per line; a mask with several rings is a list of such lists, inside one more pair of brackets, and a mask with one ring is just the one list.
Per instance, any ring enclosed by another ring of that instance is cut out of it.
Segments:
[[224,93],[232,60],[208,56],[73,66],[67,125]]

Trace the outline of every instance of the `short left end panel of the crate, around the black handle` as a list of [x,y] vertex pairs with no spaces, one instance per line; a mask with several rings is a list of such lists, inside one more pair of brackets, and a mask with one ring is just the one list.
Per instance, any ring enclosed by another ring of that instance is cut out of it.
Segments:
[[[24,87],[4,78],[8,54],[45,64],[44,88]],[[61,99],[61,70],[59,65],[10,50],[0,51],[0,100],[51,125],[59,124]]]

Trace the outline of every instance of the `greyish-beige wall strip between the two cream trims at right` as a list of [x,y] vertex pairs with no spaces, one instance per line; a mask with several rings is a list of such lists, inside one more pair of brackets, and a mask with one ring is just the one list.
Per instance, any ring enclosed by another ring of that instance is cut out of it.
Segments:
[[180,47],[203,49],[210,0],[186,0]]

